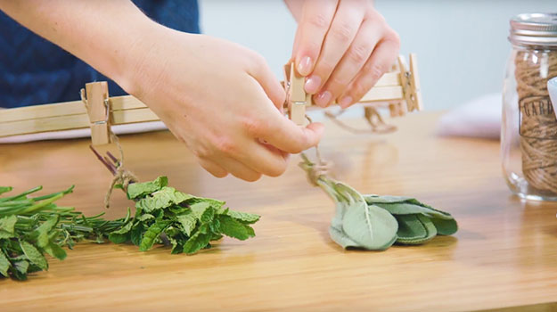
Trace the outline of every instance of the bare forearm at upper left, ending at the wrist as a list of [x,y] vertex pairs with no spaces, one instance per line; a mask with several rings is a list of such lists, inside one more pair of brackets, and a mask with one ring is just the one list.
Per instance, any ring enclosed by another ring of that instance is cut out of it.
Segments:
[[159,29],[129,0],[0,0],[0,10],[123,85],[135,47]]

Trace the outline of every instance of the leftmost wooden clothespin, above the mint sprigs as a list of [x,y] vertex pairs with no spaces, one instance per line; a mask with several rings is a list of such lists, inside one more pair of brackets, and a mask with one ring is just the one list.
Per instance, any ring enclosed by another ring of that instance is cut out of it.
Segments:
[[111,107],[107,82],[87,83],[85,89],[81,89],[81,99],[89,115],[92,145],[110,144]]

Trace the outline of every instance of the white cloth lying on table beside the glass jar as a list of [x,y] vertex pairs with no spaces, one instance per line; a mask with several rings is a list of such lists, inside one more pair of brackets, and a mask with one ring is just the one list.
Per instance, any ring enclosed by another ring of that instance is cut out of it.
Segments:
[[438,121],[441,136],[483,137],[498,140],[501,133],[501,94],[486,94],[447,112]]

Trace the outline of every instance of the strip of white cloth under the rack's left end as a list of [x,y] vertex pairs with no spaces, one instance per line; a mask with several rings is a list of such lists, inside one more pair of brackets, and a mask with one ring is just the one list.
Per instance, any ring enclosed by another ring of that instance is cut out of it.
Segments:
[[[132,133],[142,133],[149,131],[158,131],[167,129],[162,121],[150,121],[142,122],[136,124],[127,125],[116,125],[112,126],[112,131],[116,135],[127,135]],[[53,131],[45,133],[37,133],[32,135],[15,135],[0,138],[0,144],[13,144],[13,143],[25,143],[31,141],[44,141],[44,140],[66,140],[75,139],[79,137],[91,137],[91,129],[76,129],[76,130],[64,130],[64,131]]]

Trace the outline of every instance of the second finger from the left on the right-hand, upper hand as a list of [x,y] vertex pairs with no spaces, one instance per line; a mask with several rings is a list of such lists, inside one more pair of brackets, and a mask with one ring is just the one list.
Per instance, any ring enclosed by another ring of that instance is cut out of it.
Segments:
[[331,28],[324,39],[324,45],[319,53],[315,69],[307,78],[306,92],[314,95],[314,101],[319,106],[327,106],[334,99],[331,92],[322,87],[331,76],[332,71],[347,52],[348,47],[356,37],[357,30],[364,21],[365,10],[362,5],[354,5],[359,0],[340,1],[337,12],[332,20]]

